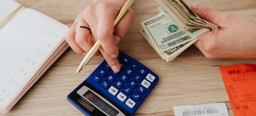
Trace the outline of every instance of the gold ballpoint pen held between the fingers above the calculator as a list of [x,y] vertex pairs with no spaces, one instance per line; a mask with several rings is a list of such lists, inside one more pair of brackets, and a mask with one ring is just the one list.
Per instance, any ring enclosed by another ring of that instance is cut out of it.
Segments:
[[[118,15],[116,16],[116,19],[114,21],[114,27],[118,24],[118,22],[122,19],[122,17],[124,16],[124,14],[126,13],[126,11],[131,7],[132,3],[135,0],[127,0],[124,4],[124,6],[120,9]],[[92,48],[90,49],[90,51],[85,55],[85,57],[83,58],[82,62],[80,63],[80,65],[78,66],[78,69],[76,71],[76,74],[79,73],[87,64],[88,62],[92,59],[92,57],[94,56],[94,54],[99,50],[100,48],[100,42],[99,40],[97,40],[94,45],[92,46]]]

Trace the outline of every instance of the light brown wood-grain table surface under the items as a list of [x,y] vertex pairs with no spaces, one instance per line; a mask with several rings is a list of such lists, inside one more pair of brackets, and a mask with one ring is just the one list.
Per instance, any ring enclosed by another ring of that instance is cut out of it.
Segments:
[[[23,0],[17,0],[22,3]],[[185,0],[247,17],[256,22],[255,0]],[[70,27],[76,16],[93,0],[32,0],[26,7],[42,12]],[[171,62],[162,60],[139,33],[140,22],[159,13],[155,0],[136,0],[131,8],[134,24],[118,48],[137,59],[159,76],[159,82],[134,115],[174,116],[173,106],[224,102],[230,116],[231,105],[220,75],[219,66],[256,64],[255,59],[207,59],[194,45]],[[212,25],[214,26],[214,25]],[[235,47],[235,46],[234,46]],[[18,103],[1,116],[82,116],[66,96],[104,60],[93,57],[80,73],[75,74],[83,55],[68,48]]]

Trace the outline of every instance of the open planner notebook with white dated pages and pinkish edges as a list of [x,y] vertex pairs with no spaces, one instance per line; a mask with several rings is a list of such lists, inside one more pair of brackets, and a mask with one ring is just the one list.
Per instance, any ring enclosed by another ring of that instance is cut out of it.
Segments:
[[[0,0],[0,22],[20,4]],[[8,112],[68,48],[68,27],[22,8],[0,28],[0,112]]]

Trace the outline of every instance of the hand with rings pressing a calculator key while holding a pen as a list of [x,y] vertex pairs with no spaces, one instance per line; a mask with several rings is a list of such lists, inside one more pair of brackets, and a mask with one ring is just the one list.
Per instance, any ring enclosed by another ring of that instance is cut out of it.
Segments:
[[[129,9],[114,27],[114,20],[124,3],[124,0],[95,0],[93,4],[87,6],[76,17],[67,32],[65,40],[69,46],[76,53],[86,55],[94,45],[91,39],[99,40],[100,52],[97,51],[95,55],[104,56],[111,69],[114,72],[119,72],[120,63],[117,59],[119,51],[116,45],[122,40],[135,20],[134,12]],[[86,28],[76,29],[77,24],[88,25],[91,31]]]

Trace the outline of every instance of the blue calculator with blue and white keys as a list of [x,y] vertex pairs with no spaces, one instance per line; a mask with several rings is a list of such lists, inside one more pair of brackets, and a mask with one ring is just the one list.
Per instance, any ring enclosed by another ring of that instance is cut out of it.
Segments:
[[132,116],[159,78],[146,66],[119,50],[121,70],[104,60],[67,100],[89,116]]

